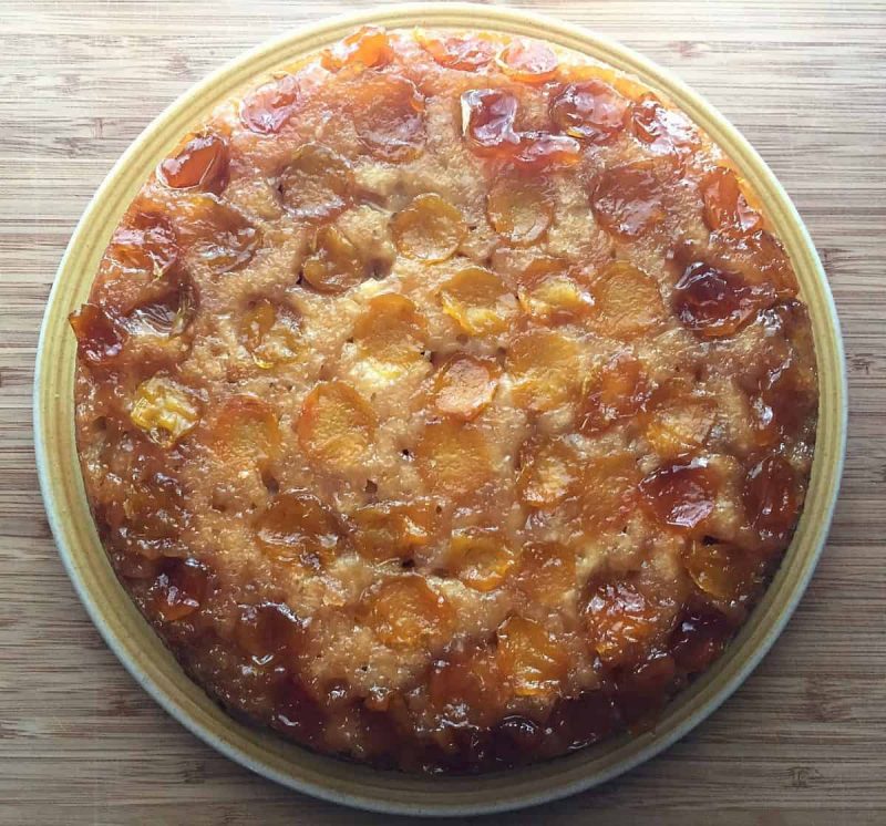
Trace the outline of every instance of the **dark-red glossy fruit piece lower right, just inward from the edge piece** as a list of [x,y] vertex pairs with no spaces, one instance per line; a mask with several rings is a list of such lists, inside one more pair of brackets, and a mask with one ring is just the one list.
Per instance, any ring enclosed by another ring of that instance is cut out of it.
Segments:
[[692,530],[713,513],[717,486],[703,460],[677,461],[650,473],[640,493],[664,525]]

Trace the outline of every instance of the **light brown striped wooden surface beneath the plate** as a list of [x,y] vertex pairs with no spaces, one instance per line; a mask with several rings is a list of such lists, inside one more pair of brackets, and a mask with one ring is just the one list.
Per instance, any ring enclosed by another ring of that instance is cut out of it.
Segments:
[[[382,824],[286,792],[188,734],[80,607],[31,444],[38,327],[91,194],[182,91],[243,50],[368,3],[0,3],[0,824]],[[745,685],[664,755],[513,824],[886,823],[886,2],[514,3],[676,70],[760,149],[841,312],[849,450],[812,586]]]

